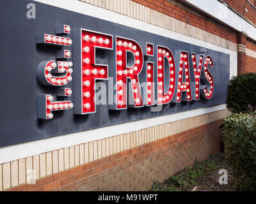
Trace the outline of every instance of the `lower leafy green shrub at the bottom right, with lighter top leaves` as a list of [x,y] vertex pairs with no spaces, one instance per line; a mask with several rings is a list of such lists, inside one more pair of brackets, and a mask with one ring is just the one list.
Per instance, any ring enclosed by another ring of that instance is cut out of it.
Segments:
[[256,112],[233,113],[225,118],[223,128],[227,163],[237,189],[256,191]]

